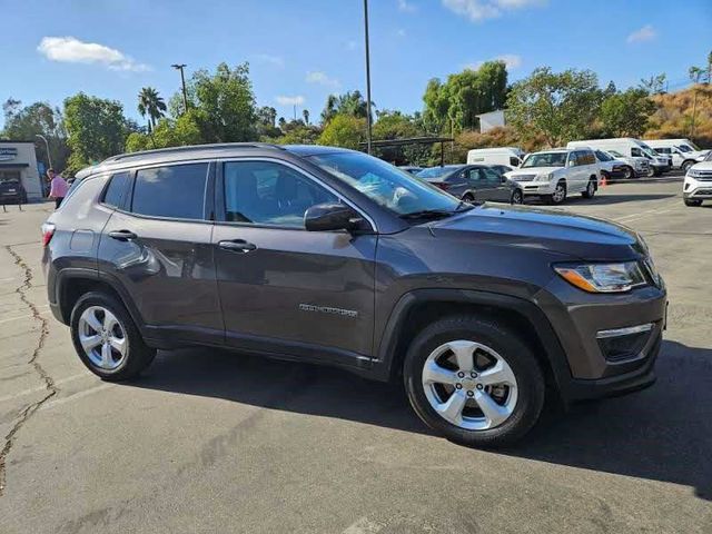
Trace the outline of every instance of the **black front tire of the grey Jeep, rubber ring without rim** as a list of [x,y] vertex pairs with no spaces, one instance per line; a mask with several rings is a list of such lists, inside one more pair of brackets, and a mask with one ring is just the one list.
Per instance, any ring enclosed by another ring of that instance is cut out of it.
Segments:
[[[431,406],[422,384],[423,366],[438,346],[454,339],[471,339],[496,350],[517,380],[517,403],[502,425],[486,431],[467,431],[443,419]],[[417,415],[448,439],[469,446],[501,446],[514,443],[536,423],[544,403],[544,378],[535,356],[516,334],[496,324],[474,318],[443,319],[426,328],[411,344],[403,369],[408,399]]]

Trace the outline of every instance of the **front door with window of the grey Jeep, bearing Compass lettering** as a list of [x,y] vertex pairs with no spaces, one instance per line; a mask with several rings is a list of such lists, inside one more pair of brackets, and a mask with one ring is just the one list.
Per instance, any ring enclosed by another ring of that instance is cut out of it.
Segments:
[[304,227],[307,208],[334,201],[290,164],[218,164],[212,245],[228,345],[346,363],[370,354],[377,237]]

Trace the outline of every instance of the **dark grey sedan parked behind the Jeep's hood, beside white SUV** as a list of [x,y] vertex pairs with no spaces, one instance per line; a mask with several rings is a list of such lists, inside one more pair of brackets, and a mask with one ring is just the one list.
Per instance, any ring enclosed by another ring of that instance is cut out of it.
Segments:
[[431,167],[416,175],[417,178],[466,202],[491,200],[495,202],[522,204],[522,187],[486,165],[446,165]]

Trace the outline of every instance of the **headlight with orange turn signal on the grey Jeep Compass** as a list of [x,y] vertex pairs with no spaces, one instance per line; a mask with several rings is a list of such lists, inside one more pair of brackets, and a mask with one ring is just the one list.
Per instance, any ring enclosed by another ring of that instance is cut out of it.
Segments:
[[646,284],[637,261],[556,265],[554,270],[587,293],[624,293]]

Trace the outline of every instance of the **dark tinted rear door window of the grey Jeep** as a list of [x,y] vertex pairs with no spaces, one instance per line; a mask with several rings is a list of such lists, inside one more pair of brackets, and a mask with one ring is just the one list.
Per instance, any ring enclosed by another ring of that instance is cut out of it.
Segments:
[[208,164],[141,169],[136,174],[131,211],[171,219],[202,219]]

